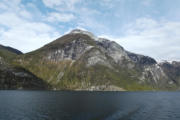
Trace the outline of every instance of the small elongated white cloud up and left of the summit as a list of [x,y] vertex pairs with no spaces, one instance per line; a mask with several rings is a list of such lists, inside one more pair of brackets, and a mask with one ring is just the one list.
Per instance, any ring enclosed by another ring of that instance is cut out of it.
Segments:
[[47,21],[49,22],[69,22],[73,20],[75,16],[73,14],[65,14],[65,13],[49,13],[47,17]]

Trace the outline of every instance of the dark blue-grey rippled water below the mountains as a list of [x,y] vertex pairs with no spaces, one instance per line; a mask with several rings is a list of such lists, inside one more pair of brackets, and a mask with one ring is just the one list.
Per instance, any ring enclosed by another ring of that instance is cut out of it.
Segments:
[[0,120],[180,120],[180,92],[0,91]]

